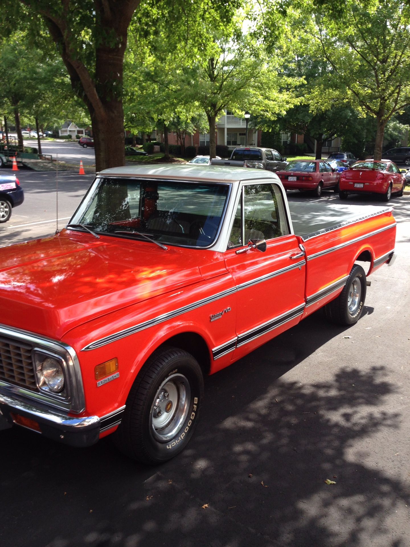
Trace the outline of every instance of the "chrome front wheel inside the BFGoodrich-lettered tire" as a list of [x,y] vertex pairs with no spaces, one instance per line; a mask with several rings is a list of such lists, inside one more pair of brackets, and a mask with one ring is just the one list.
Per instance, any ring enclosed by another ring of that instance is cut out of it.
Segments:
[[151,407],[151,431],[156,440],[166,443],[178,434],[188,416],[191,388],[183,374],[165,379],[154,397]]

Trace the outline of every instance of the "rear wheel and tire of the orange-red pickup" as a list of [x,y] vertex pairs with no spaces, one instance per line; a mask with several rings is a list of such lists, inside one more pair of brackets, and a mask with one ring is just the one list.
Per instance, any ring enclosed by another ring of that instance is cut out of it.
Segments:
[[326,304],[327,319],[338,325],[354,325],[360,319],[366,298],[366,274],[355,264],[339,296]]

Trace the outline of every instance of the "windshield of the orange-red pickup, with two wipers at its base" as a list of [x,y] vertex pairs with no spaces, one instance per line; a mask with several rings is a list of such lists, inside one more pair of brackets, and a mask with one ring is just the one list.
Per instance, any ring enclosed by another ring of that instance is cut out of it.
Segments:
[[105,235],[129,234],[146,240],[144,234],[160,243],[209,247],[218,235],[229,188],[229,184],[97,178],[69,225],[83,224]]

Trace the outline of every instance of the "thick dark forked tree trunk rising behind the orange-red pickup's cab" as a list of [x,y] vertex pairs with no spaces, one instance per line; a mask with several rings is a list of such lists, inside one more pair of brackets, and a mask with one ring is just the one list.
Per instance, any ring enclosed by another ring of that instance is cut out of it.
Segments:
[[61,15],[54,7],[46,7],[46,4],[40,13],[67,67],[72,88],[90,113],[96,171],[125,165],[122,108],[124,53],[128,25],[139,0],[93,2],[93,25],[100,39],[96,46],[87,46],[87,49],[89,55],[95,55],[94,66],[85,66],[81,62],[76,50],[77,38],[73,39],[68,30],[67,19],[72,16],[72,3],[61,2]]

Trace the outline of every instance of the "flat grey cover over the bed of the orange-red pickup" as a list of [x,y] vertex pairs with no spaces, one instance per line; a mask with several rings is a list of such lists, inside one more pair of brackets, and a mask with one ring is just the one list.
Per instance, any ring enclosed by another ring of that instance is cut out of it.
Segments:
[[393,209],[391,207],[373,207],[369,212],[369,207],[363,205],[290,201],[289,210],[295,234],[302,237],[303,241],[306,241],[310,237],[342,228]]

